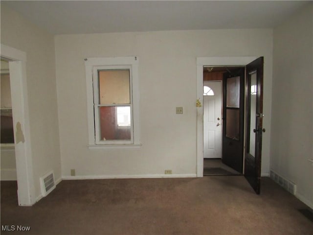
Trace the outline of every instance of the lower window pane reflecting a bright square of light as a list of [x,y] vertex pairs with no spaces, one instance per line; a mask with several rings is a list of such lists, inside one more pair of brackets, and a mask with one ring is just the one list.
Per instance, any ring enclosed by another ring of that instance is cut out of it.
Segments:
[[130,106],[99,107],[101,141],[131,140]]

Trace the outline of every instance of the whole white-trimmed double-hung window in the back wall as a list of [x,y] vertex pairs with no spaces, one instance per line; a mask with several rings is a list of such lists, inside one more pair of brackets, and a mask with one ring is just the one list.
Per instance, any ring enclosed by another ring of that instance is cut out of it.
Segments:
[[85,59],[89,148],[140,146],[138,58]]

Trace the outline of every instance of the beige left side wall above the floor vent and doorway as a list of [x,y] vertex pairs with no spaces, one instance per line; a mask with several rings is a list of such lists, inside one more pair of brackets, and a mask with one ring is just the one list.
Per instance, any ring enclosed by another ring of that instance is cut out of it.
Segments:
[[61,177],[54,38],[1,3],[1,44],[27,56],[32,168],[38,197],[41,176],[53,169],[55,178]]

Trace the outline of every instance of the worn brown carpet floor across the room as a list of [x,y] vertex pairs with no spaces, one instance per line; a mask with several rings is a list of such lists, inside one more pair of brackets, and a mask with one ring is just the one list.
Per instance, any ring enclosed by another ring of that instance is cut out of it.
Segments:
[[243,176],[62,181],[32,207],[16,190],[1,181],[1,235],[313,234],[306,205],[269,178],[260,195]]

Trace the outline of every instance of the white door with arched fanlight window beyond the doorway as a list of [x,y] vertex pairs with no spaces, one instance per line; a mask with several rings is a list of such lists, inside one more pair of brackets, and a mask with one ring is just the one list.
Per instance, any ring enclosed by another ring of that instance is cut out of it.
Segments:
[[203,158],[222,158],[222,82],[203,82]]

